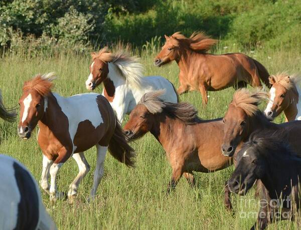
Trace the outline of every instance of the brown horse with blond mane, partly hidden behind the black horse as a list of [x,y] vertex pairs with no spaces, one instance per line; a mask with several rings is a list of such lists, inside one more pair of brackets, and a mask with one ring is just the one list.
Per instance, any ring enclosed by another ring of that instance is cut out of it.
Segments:
[[[266,98],[264,92],[250,92],[247,89],[237,90],[233,100],[223,118],[224,141],[222,152],[225,156],[234,156],[236,164],[236,153],[243,142],[247,141],[250,135],[258,130],[280,131],[287,134],[288,143],[292,150],[301,156],[301,121],[290,121],[282,124],[270,122],[260,111],[258,105]],[[237,149],[237,151],[235,151]],[[225,205],[231,209],[229,188],[225,186]]]

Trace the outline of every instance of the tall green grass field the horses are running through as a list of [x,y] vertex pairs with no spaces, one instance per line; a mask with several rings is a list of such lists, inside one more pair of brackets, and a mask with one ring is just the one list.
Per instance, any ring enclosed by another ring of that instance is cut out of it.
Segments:
[[[215,53],[239,52],[235,46],[220,47]],[[244,52],[241,50],[241,52]],[[260,61],[270,73],[300,71],[300,54],[294,51],[252,51],[248,55]],[[176,63],[157,68],[153,65],[156,54],[141,55],[145,75],[161,75],[178,87],[179,69]],[[55,71],[59,78],[54,91],[63,96],[87,92],[89,56],[65,55],[24,59],[16,55],[3,58],[0,62],[0,88],[7,106],[18,104],[22,85],[37,73]],[[96,89],[101,92],[101,89]],[[181,96],[181,101],[192,103],[204,119],[222,117],[232,99],[233,88],[209,92],[209,103],[202,106],[199,92]],[[263,105],[262,105],[263,106]],[[19,112],[19,111],[18,111]],[[19,117],[18,117],[19,120]],[[126,120],[126,119],[125,119]],[[276,122],[282,122],[283,116]],[[39,181],[42,169],[42,152],[36,141],[37,131],[25,141],[18,137],[18,122],[0,122],[0,152],[8,154],[25,164]],[[85,152],[91,171],[82,181],[74,204],[67,201],[51,203],[42,191],[46,207],[59,229],[247,229],[252,226],[259,209],[253,189],[243,197],[232,195],[234,213],[225,210],[223,185],[233,167],[215,173],[195,173],[196,189],[191,189],[182,178],[176,190],[166,197],[166,186],[171,176],[171,167],[158,141],[150,134],[131,144],[137,152],[136,167],[129,169],[109,154],[105,161],[104,177],[98,187],[95,201],[88,203],[93,183],[96,150]],[[78,168],[73,159],[68,160],[58,175],[58,188],[67,191],[77,175]],[[296,223],[277,222],[275,228],[296,228]]]

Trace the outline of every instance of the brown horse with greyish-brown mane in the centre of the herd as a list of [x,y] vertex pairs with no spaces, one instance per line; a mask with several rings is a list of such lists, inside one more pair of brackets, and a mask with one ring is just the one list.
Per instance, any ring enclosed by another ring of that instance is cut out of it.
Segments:
[[145,93],[131,111],[124,131],[129,140],[152,133],[163,146],[172,166],[167,193],[184,174],[195,185],[193,171],[213,172],[232,164],[231,157],[221,154],[224,124],[221,119],[201,120],[188,103],[161,100],[165,91]]

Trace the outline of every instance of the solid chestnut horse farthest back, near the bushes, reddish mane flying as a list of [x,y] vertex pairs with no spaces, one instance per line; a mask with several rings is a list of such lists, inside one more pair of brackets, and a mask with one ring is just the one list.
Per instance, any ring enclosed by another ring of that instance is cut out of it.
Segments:
[[155,66],[176,61],[180,68],[178,94],[199,90],[203,104],[207,104],[207,91],[218,91],[231,86],[239,88],[246,83],[269,87],[268,72],[258,61],[240,53],[213,55],[207,51],[217,43],[204,33],[193,33],[190,38],[177,32],[165,35],[166,43],[155,58]]

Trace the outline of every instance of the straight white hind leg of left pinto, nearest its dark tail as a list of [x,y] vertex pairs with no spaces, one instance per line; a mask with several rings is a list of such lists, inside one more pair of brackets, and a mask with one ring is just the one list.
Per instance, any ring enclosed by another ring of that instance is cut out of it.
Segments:
[[96,160],[96,167],[94,171],[94,180],[93,180],[93,187],[91,189],[90,197],[88,200],[93,200],[97,187],[99,185],[99,182],[103,176],[104,168],[103,168],[103,163],[105,159],[105,154],[107,152],[108,146],[101,146],[99,144],[96,145],[96,150],[97,150],[97,160]]

